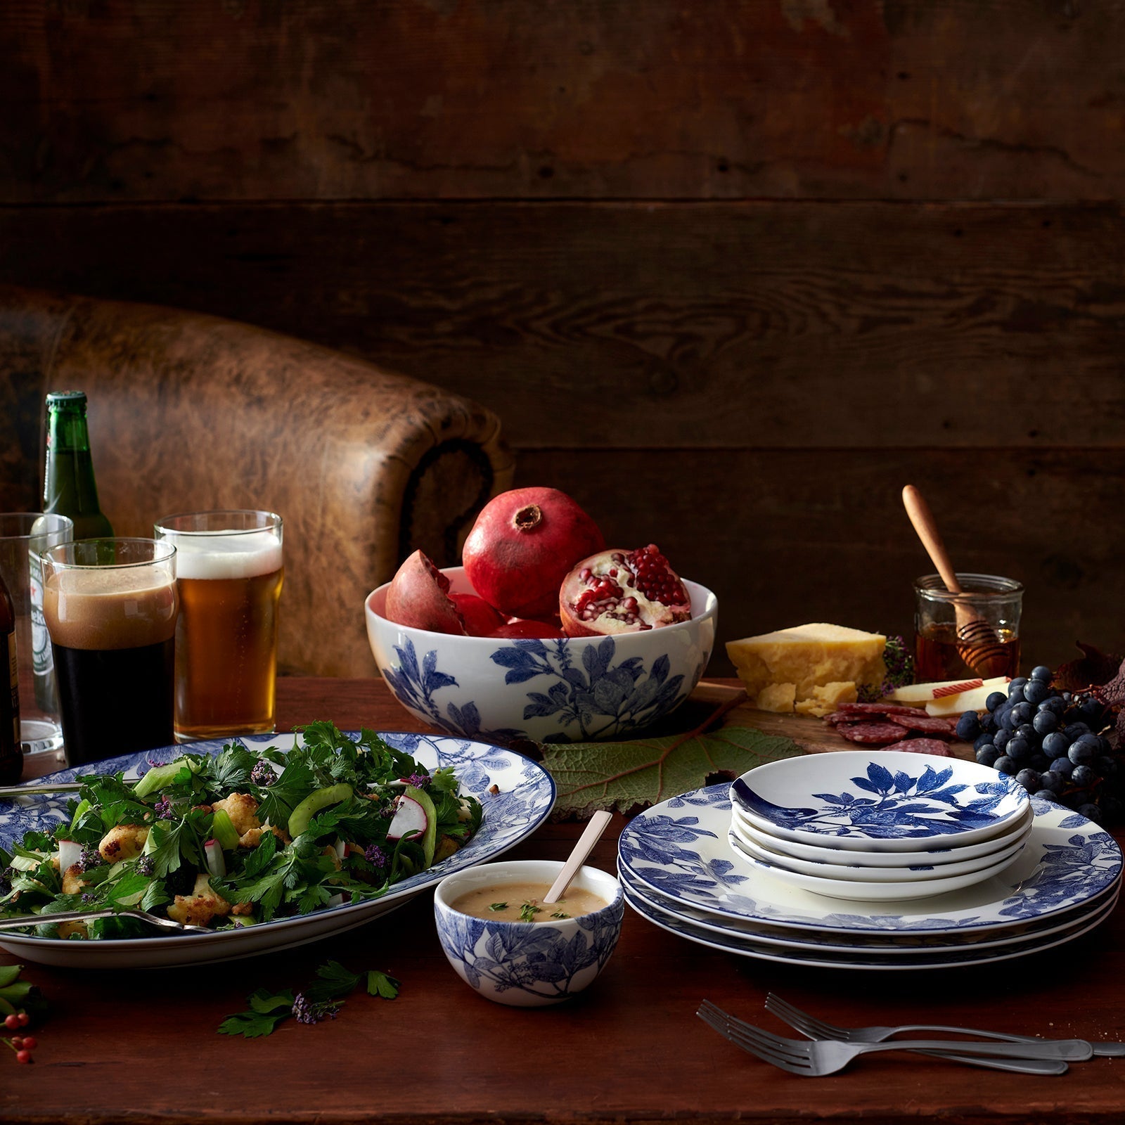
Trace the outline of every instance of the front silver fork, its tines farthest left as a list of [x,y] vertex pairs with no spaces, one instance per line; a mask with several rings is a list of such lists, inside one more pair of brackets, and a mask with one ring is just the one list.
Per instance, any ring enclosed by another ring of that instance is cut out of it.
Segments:
[[[696,1015],[709,1027],[749,1054],[793,1074],[817,1078],[822,1074],[835,1074],[862,1054],[876,1051],[929,1051],[946,1045],[942,1040],[902,1040],[896,1043],[786,1040],[740,1019],[734,1019],[708,1000],[703,1001]],[[965,1046],[971,1046],[973,1054],[958,1056],[958,1061],[971,1061],[981,1065],[994,1060],[996,1069],[1016,1070],[1020,1073],[1062,1074],[1066,1070],[1068,1059],[1079,1061],[1090,1058],[1090,1045],[1081,1040],[1038,1043],[978,1042]],[[942,1058],[952,1056],[943,1054]],[[998,1064],[1001,1059],[1008,1060],[1008,1063]],[[1038,1061],[1046,1061],[1047,1065],[1037,1065]]]

